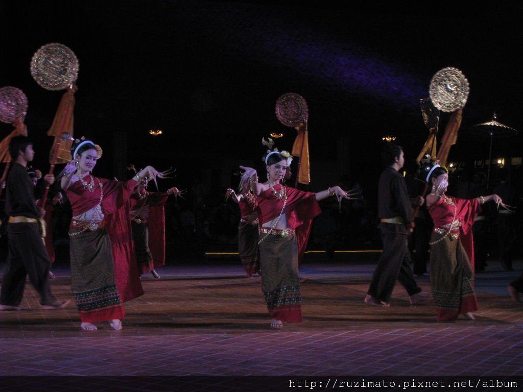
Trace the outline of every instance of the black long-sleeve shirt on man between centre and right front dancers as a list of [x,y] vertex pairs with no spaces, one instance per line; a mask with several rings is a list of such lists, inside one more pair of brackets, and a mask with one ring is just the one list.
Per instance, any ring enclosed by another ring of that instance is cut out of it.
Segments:
[[412,222],[412,206],[405,179],[390,166],[383,170],[380,176],[378,215],[380,218],[401,216],[405,225]]

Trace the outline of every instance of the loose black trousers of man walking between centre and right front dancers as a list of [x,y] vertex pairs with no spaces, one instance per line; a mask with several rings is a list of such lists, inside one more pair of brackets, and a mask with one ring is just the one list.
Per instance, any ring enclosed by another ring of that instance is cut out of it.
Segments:
[[411,256],[407,247],[407,235],[399,233],[399,226],[393,223],[380,224],[383,252],[367,294],[384,302],[389,302],[396,280],[405,287],[408,295],[422,291],[409,266]]

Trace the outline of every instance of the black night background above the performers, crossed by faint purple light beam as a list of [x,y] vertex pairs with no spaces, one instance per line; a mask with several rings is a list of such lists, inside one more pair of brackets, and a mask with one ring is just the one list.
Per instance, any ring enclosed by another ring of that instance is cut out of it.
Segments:
[[[488,6],[424,3],[367,6],[348,2],[75,1],[0,3],[0,87],[22,89],[35,167],[47,171],[46,132],[62,96],[29,72],[33,53],[60,42],[79,60],[75,136],[104,148],[97,175],[130,176],[127,163],[177,168],[176,185],[207,189],[223,204],[238,164],[261,169],[261,138],[295,130],[275,102],[298,93],[309,106],[311,190],[345,178],[376,203],[381,137],[395,135],[407,159],[427,137],[419,99],[431,77],[459,68],[470,83],[458,144],[450,161],[488,158],[489,139],[472,125],[498,121],[523,130],[519,3]],[[442,113],[440,135],[448,120]],[[0,137],[12,130],[0,124]],[[149,135],[160,128],[163,135]],[[114,162],[115,143],[127,162]],[[521,137],[495,139],[493,157],[521,156]],[[261,176],[260,176],[261,177]],[[189,192],[190,193],[190,192]],[[190,199],[191,195],[188,195]]]

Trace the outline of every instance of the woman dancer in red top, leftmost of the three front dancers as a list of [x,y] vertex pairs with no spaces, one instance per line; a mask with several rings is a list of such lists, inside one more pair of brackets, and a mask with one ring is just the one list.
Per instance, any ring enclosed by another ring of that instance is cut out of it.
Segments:
[[145,176],[162,177],[147,166],[133,179],[118,182],[90,174],[101,157],[91,141],[72,146],[73,161],[61,180],[73,209],[70,226],[71,290],[82,320],[82,330],[96,330],[93,322],[109,320],[121,329],[123,302],[143,294],[132,253],[129,197]]

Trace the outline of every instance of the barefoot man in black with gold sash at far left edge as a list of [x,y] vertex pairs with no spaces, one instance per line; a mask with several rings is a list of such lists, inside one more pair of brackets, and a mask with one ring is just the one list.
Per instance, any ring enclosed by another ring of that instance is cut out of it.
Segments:
[[[37,207],[34,187],[27,174],[27,164],[35,152],[27,136],[15,136],[9,142],[14,161],[7,177],[5,212],[8,218],[9,256],[4,268],[0,310],[17,310],[24,295],[26,276],[40,294],[42,309],[58,309],[70,301],[60,302],[51,293],[51,260],[40,236],[39,218],[44,210]],[[45,177],[54,182],[53,175]]]

